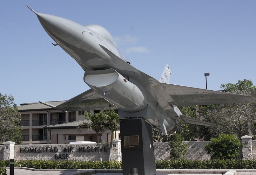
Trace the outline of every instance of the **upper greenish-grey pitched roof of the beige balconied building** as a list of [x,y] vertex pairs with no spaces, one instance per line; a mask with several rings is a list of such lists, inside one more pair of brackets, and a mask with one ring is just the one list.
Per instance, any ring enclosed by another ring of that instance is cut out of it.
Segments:
[[[58,106],[66,101],[56,101],[56,102],[47,102],[51,105]],[[19,112],[22,111],[44,111],[44,110],[54,110],[52,107],[46,106],[41,103],[22,103],[18,106]]]

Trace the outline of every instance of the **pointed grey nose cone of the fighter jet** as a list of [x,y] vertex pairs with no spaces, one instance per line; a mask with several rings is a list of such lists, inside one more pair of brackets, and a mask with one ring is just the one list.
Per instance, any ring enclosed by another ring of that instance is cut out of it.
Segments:
[[84,27],[74,21],[49,14],[36,13],[36,15],[45,31],[56,42],[64,41],[75,45],[85,37],[82,33]]

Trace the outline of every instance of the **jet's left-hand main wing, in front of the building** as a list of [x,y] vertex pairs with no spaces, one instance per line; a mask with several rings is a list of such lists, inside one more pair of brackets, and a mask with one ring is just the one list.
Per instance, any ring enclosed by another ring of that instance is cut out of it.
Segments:
[[113,104],[102,98],[92,89],[85,91],[78,96],[67,100],[66,102],[56,106],[56,108],[64,111],[87,111],[87,110],[106,110],[110,109]]

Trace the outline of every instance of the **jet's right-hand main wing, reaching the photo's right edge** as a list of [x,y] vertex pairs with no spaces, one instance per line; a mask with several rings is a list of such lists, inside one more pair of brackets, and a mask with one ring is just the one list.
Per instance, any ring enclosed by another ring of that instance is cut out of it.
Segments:
[[175,101],[175,106],[194,106],[225,103],[256,102],[254,90],[251,96],[199,89],[188,86],[161,83],[166,92]]

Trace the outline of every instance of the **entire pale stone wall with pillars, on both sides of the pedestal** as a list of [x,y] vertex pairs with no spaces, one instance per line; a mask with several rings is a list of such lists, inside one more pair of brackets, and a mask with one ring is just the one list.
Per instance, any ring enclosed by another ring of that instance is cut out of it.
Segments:
[[[208,160],[210,156],[204,151],[204,145],[210,141],[190,141],[186,142],[189,146],[187,160]],[[247,142],[248,146],[250,142]],[[252,159],[256,159],[256,140],[251,141]],[[49,144],[49,145],[15,145],[15,160],[83,160],[98,161],[99,154],[96,150],[96,144]],[[168,142],[154,142],[155,160],[169,160],[170,153],[167,151]],[[4,149],[4,145],[0,145],[0,160],[8,160],[8,149]],[[9,148],[9,147],[8,147]],[[241,151],[244,149],[241,148]],[[243,151],[244,152],[244,151]],[[248,152],[248,151],[247,151]],[[241,154],[248,154],[247,152]],[[102,160],[108,160],[109,147],[101,146]],[[6,158],[5,158],[6,157]],[[244,158],[247,159],[247,158]],[[111,160],[121,161],[121,142],[113,143],[113,151]]]

